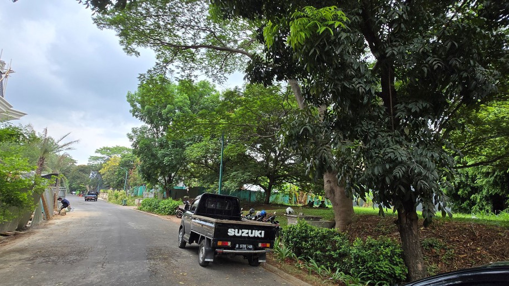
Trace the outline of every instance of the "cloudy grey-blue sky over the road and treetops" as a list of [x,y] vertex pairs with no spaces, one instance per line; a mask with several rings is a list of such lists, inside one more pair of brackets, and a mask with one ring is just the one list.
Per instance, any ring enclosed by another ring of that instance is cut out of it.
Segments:
[[[126,134],[141,123],[129,113],[128,91],[154,65],[151,51],[128,56],[111,30],[99,30],[91,11],[74,0],[0,0],[2,60],[12,60],[5,99],[27,113],[15,123],[64,142],[78,164],[103,146],[127,146]],[[240,75],[225,86],[242,84]]]

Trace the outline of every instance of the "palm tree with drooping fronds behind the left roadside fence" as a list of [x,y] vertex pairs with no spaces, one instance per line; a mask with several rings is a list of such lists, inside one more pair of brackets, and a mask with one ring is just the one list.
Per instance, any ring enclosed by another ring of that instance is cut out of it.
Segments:
[[[38,152],[37,169],[35,171],[36,175],[41,175],[47,156],[49,156],[50,154],[56,154],[62,151],[74,149],[73,147],[71,147],[71,145],[79,142],[79,140],[61,143],[69,134],[71,133],[67,133],[60,139],[55,140],[53,137],[48,136],[48,128],[45,128],[43,132],[38,135],[39,140],[37,140],[35,143],[35,148]],[[46,202],[44,196],[41,196],[41,199],[44,212],[47,214],[46,219],[50,219],[50,215],[48,215],[49,213],[48,203]]]

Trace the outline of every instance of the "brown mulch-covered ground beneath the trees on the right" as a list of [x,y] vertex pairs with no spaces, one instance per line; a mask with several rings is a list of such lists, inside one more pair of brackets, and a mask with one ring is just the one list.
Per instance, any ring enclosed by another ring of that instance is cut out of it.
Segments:
[[[385,236],[400,240],[394,216],[360,215],[347,228],[351,238]],[[419,221],[422,226],[422,222]],[[459,221],[435,220],[420,228],[420,240],[430,274],[509,261],[509,229]]]

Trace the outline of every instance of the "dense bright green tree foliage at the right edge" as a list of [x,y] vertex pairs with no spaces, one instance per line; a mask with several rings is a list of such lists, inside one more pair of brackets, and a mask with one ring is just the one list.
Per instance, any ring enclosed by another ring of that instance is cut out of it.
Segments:
[[457,211],[497,213],[509,207],[509,106],[504,101],[465,113],[451,134],[459,149],[459,174],[448,192]]

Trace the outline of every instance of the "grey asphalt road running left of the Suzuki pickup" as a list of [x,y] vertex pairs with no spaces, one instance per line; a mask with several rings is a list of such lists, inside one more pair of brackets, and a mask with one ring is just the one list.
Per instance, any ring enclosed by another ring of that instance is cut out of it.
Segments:
[[295,285],[242,257],[197,262],[179,225],[132,208],[68,196],[73,211],[0,244],[0,285]]

